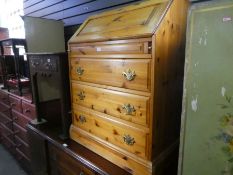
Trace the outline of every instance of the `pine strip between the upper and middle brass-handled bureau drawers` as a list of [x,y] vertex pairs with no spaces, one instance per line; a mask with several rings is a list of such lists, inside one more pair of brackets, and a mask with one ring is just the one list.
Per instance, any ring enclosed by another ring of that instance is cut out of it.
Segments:
[[87,85],[87,86],[93,86],[93,87],[98,87],[98,88],[103,88],[103,89],[108,89],[108,90],[114,90],[114,91],[118,91],[118,92],[126,92],[126,93],[131,93],[131,94],[134,94],[134,95],[141,95],[141,96],[145,96],[145,97],[150,97],[151,96],[150,92],[143,92],[143,91],[137,91],[137,90],[131,90],[131,89],[124,89],[124,88],[118,88],[118,87],[101,85],[101,84],[94,84],[94,83],[77,81],[77,80],[71,80],[71,83],[79,83],[79,84],[83,84],[83,85]]

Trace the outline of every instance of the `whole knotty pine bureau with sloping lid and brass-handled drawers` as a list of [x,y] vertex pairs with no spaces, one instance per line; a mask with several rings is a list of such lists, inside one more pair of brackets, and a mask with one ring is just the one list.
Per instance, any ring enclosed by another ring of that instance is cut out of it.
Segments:
[[69,41],[70,137],[131,174],[166,174],[178,146],[187,7],[107,12]]

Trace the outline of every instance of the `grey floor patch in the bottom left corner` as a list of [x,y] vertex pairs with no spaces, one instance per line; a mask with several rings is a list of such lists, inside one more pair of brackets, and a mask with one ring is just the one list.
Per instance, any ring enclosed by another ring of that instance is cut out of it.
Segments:
[[13,156],[0,144],[0,175],[27,175]]

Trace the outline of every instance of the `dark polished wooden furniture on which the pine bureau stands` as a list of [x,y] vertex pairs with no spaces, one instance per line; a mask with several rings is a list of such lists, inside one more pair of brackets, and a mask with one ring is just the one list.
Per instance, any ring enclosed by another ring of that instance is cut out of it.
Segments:
[[62,140],[60,129],[49,123],[29,124],[27,130],[33,175],[129,175],[73,140]]

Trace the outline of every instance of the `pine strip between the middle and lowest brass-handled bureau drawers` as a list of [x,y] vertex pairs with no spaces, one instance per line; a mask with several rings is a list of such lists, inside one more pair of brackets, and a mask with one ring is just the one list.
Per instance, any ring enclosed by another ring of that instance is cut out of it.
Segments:
[[110,115],[107,115],[107,114],[104,114],[104,113],[101,113],[101,112],[98,112],[98,111],[95,111],[95,110],[92,110],[92,109],[88,109],[88,108],[85,108],[83,106],[80,106],[80,105],[77,105],[77,104],[74,104],[74,103],[73,103],[73,108],[74,109],[79,108],[82,111],[92,113],[95,116],[97,116],[97,117],[99,117],[99,118],[101,118],[101,119],[103,119],[105,121],[114,123],[114,124],[116,124],[116,125],[118,125],[120,127],[124,126],[125,128],[130,128],[130,129],[136,130],[137,132],[142,132],[142,133],[145,133],[145,134],[149,133],[149,128],[144,127],[142,125],[138,125],[138,124],[135,124],[135,123],[132,123],[132,122],[128,122],[128,121],[125,121],[125,120],[120,119],[120,118],[112,117]]

